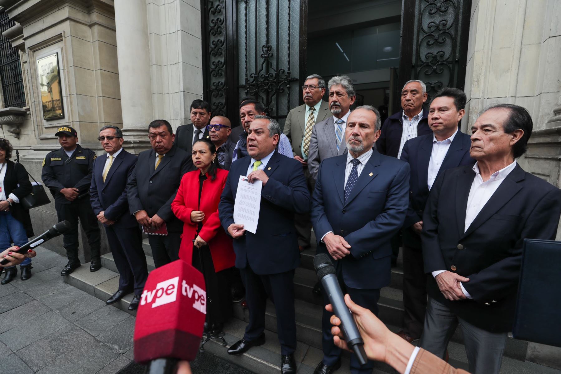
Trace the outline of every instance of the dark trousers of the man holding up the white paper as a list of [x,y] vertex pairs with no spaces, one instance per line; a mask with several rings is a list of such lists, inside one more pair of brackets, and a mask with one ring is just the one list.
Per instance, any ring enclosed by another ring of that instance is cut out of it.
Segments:
[[296,350],[296,317],[294,310],[294,270],[279,274],[257,275],[249,264],[240,269],[246,285],[246,302],[249,308],[249,325],[243,338],[255,340],[265,330],[265,305],[267,295],[275,304],[280,354]]

